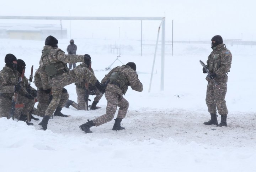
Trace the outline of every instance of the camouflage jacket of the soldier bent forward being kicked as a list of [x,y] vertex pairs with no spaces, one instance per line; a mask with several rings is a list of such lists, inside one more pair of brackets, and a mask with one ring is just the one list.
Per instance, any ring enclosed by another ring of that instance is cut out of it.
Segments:
[[135,91],[141,92],[143,90],[143,85],[139,81],[137,72],[127,65],[113,68],[108,74],[105,75],[101,83],[105,83],[114,72],[120,73],[120,78],[116,81],[119,86],[110,82],[108,83],[106,90],[118,93],[120,95],[125,94],[129,86]]

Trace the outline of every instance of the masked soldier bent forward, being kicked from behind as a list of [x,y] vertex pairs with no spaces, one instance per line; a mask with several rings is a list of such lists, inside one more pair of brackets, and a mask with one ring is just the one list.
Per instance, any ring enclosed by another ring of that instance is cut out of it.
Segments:
[[102,79],[101,83],[105,83],[108,79],[109,84],[107,85],[105,92],[105,97],[107,99],[106,114],[95,118],[94,120],[88,120],[88,122],[79,126],[85,133],[92,133],[90,131],[92,126],[100,126],[113,120],[117,106],[119,107],[119,110],[112,130],[117,131],[124,129],[124,127],[121,127],[121,121],[126,116],[129,102],[123,98],[123,94],[126,93],[129,86],[135,91],[141,92],[143,90],[143,85],[139,81],[136,72],[136,65],[133,62],[113,68]]

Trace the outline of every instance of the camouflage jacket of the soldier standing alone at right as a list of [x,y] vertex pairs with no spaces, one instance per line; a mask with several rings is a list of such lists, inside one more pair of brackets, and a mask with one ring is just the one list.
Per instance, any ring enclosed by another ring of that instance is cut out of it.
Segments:
[[[216,80],[228,81],[227,73],[231,68],[232,54],[224,44],[216,46],[216,49],[208,56],[207,66],[211,73],[216,73]],[[206,77],[207,81],[210,81]]]

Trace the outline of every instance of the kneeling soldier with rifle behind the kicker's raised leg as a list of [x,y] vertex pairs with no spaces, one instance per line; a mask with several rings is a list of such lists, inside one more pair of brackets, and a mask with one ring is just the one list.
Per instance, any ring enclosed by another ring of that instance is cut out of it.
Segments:
[[[94,71],[91,68],[91,57],[88,55],[84,62],[82,62],[80,65],[78,65],[76,68],[86,67],[89,68],[89,70],[94,73]],[[78,103],[75,103],[72,100],[68,100],[66,102],[65,107],[69,108],[69,106],[75,107],[77,110],[88,110],[88,100],[89,95],[96,95],[94,98],[94,101],[92,102],[90,110],[96,110],[98,107],[96,107],[97,103],[102,98],[103,94],[92,84],[89,84],[86,81],[83,82],[76,82],[76,94],[78,96],[77,101]],[[86,88],[86,85],[88,88]]]

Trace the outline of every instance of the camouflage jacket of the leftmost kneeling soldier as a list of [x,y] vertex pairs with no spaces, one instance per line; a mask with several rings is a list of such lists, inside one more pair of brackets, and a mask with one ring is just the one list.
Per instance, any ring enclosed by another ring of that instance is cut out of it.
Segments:
[[[25,77],[23,77],[25,78]],[[19,73],[16,70],[5,65],[3,70],[0,71],[0,93],[6,98],[12,99],[15,91],[15,85],[18,83]],[[28,94],[25,88],[21,87],[21,95]]]

